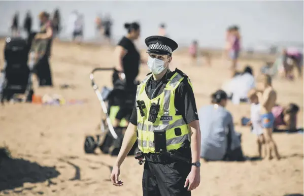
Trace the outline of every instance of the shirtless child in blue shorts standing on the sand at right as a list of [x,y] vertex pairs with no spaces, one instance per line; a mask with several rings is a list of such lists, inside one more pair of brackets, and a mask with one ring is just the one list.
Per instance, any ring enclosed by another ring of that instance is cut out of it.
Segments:
[[266,147],[268,152],[266,157],[272,159],[272,151],[275,151],[277,159],[280,159],[277,144],[275,143],[272,133],[275,117],[272,113],[272,109],[277,101],[277,92],[272,87],[272,78],[269,75],[260,75],[258,77],[258,91],[257,96],[261,105],[261,119],[263,126],[263,133],[266,141]]

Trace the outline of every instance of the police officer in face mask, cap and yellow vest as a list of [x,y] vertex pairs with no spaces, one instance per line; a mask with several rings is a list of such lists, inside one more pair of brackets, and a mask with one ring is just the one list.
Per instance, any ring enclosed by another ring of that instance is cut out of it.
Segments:
[[137,140],[138,155],[145,161],[144,196],[191,195],[200,182],[200,130],[192,84],[180,70],[169,70],[175,41],[151,36],[145,43],[151,73],[137,87],[111,181],[123,185],[119,168]]

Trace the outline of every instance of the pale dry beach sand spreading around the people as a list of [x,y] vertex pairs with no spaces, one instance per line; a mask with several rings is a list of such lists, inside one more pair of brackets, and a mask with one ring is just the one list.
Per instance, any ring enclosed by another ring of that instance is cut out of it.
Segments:
[[[4,41],[0,42],[3,51]],[[66,99],[88,99],[88,103],[73,106],[42,106],[35,104],[6,104],[0,107],[0,145],[6,144],[15,158],[3,160],[0,169],[0,195],[142,195],[143,166],[127,157],[121,167],[124,186],[115,187],[109,181],[110,169],[116,157],[100,154],[87,155],[83,151],[86,134],[96,133],[100,106],[90,86],[92,68],[112,67],[113,48],[78,46],[58,43],[53,45],[51,68],[54,88],[37,88],[36,93],[58,93]],[[3,62],[3,52],[0,61]],[[190,66],[186,53],[174,55],[171,65],[178,67],[194,86],[197,107],[209,104],[209,95],[228,79],[228,70],[221,59],[213,59],[212,67]],[[263,62],[242,60],[251,64],[255,73]],[[142,65],[139,79],[148,73]],[[111,73],[96,74],[97,82],[111,86]],[[67,83],[75,89],[60,89]],[[303,125],[303,80],[294,82],[274,80],[278,103],[290,101],[300,105],[299,125]],[[248,105],[227,108],[234,121],[249,116]],[[242,146],[248,156],[256,155],[255,136],[248,128],[236,125],[243,134]],[[303,136],[274,134],[280,161],[259,160],[246,162],[202,163],[200,186],[192,195],[280,196],[303,193]],[[4,181],[5,180],[5,181]]]

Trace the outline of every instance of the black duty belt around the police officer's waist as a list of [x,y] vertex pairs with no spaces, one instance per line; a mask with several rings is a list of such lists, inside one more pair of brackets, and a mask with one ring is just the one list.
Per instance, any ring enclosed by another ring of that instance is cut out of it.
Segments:
[[191,158],[183,157],[179,155],[178,152],[162,152],[162,153],[144,153],[145,161],[148,162],[158,162],[158,163],[169,163],[175,162],[177,160],[187,162],[188,164],[191,163]]

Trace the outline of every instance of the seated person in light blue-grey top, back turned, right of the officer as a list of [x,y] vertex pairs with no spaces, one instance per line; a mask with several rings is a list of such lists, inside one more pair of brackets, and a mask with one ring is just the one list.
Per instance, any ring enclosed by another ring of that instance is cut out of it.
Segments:
[[211,105],[198,111],[201,130],[201,154],[205,160],[244,160],[241,135],[234,130],[231,113],[225,109],[228,96],[217,90]]

